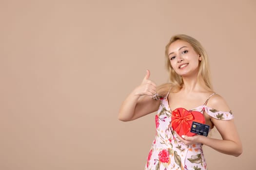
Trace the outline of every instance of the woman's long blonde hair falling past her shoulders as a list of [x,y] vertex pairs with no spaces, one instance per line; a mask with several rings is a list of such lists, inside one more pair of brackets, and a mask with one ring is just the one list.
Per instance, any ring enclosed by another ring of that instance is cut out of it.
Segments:
[[193,49],[201,56],[201,61],[199,62],[199,71],[197,78],[199,83],[206,85],[206,87],[212,91],[212,83],[210,77],[210,69],[208,56],[202,45],[195,38],[185,35],[185,34],[177,34],[171,37],[169,43],[165,47],[165,59],[166,59],[166,68],[169,72],[169,83],[159,85],[157,88],[157,93],[159,96],[165,96],[168,91],[171,89],[171,92],[178,92],[183,85],[183,80],[180,75],[178,75],[171,66],[170,59],[168,56],[168,49],[170,45],[177,41],[182,40],[188,42]]

